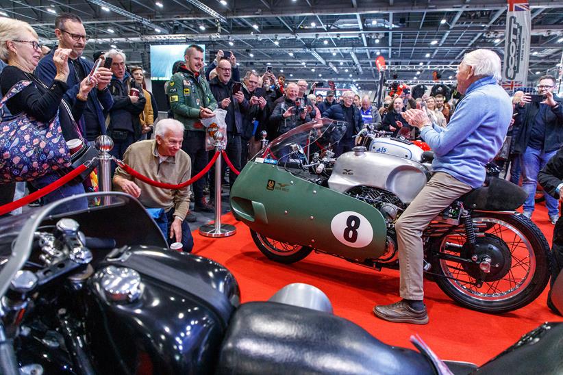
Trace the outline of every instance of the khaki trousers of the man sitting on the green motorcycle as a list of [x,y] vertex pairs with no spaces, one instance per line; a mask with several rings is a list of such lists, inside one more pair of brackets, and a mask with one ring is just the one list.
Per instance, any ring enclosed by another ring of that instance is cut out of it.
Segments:
[[451,177],[450,174],[436,172],[397,220],[395,229],[399,246],[401,273],[399,294],[401,298],[423,300],[422,233],[443,209],[471,190],[470,185]]

